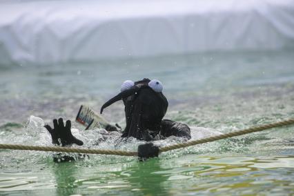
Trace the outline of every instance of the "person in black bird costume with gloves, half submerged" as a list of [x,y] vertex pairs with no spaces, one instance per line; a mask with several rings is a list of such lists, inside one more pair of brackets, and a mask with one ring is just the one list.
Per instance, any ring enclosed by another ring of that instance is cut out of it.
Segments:
[[[107,101],[100,110],[103,110],[123,100],[126,115],[126,128],[121,137],[135,137],[144,141],[164,139],[171,135],[177,137],[191,138],[190,128],[186,124],[163,119],[168,108],[168,101],[162,94],[162,84],[153,79],[142,79],[141,81],[125,81],[121,85],[121,92]],[[68,144],[83,145],[83,141],[75,138],[70,131],[70,121],[63,124],[63,119],[53,120],[54,129],[46,125],[46,129],[52,136],[52,143],[66,146]],[[108,128],[106,128],[108,130]],[[113,130],[110,128],[109,130]],[[61,144],[60,144],[61,143]],[[147,143],[139,146],[139,157],[157,157],[159,148]]]

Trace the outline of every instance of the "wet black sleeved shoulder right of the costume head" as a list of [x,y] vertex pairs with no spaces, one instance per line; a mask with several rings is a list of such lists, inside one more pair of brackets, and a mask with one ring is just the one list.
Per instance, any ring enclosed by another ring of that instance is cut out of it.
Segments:
[[186,137],[191,139],[190,128],[186,124],[182,124],[176,121],[164,119],[161,121],[160,135],[164,137],[170,137],[171,135],[177,137]]

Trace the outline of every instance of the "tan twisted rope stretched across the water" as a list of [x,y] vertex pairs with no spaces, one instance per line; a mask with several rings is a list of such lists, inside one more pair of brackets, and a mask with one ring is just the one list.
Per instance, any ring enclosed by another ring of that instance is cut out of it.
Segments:
[[[188,141],[183,144],[173,144],[159,148],[159,153],[164,153],[169,150],[175,150],[178,148],[185,148],[188,146],[195,146],[197,144],[204,144],[211,141],[217,141],[219,139],[226,139],[229,137],[235,137],[239,135],[245,135],[248,133],[255,133],[270,128],[277,128],[281,126],[287,126],[294,124],[294,119],[288,119],[286,121],[279,121],[273,124],[266,124],[262,126],[255,126],[244,130],[235,131],[232,133],[226,133],[222,135],[216,135],[213,137],[207,137],[204,139],[197,139],[194,141]],[[123,150],[99,150],[99,149],[85,149],[85,148],[66,148],[57,146],[25,146],[17,144],[0,144],[0,149],[11,149],[11,150],[37,150],[37,151],[50,151],[50,152],[63,152],[63,153],[86,153],[86,154],[99,154],[99,155],[121,155],[121,156],[137,156],[137,152],[123,151]]]

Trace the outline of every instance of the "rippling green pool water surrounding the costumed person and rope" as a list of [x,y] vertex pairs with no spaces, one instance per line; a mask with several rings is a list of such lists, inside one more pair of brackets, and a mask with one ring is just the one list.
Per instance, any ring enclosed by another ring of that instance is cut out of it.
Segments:
[[[42,127],[75,119],[79,105],[99,110],[126,79],[159,79],[166,118],[191,127],[193,139],[294,117],[294,51],[223,52],[70,63],[0,66],[0,143],[51,146]],[[31,117],[31,115],[35,117]],[[121,103],[105,117],[124,126]],[[84,131],[84,148],[135,150],[142,141]],[[155,144],[184,142],[171,137]],[[135,157],[90,155],[55,164],[52,153],[0,150],[0,195],[293,195],[294,126]]]

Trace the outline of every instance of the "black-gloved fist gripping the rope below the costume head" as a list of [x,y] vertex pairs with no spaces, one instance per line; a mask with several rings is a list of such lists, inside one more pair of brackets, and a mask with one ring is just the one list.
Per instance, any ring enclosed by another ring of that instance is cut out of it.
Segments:
[[138,146],[138,157],[140,160],[145,160],[152,157],[158,157],[159,147],[153,143],[141,144]]

